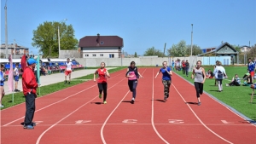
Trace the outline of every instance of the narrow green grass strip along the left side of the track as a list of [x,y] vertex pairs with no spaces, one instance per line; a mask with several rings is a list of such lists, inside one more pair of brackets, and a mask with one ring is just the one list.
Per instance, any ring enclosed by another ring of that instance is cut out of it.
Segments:
[[[109,73],[118,72],[124,68],[125,67],[117,67],[117,68],[108,70],[108,72]],[[72,81],[71,84],[63,84],[63,82],[60,82],[60,83],[56,83],[56,84],[49,84],[49,85],[42,86],[42,87],[40,87],[40,95],[38,95],[38,97],[48,95],[50,93],[53,93],[53,92],[61,90],[61,89],[66,89],[73,85],[82,84],[82,83],[84,83],[84,79],[92,79],[92,78],[93,78],[93,74],[89,74],[89,75],[86,75],[86,76],[83,76],[80,78],[73,78],[73,79],[77,79],[77,80]],[[79,80],[79,79],[81,79],[81,80]],[[8,90],[8,89],[5,89],[5,90]],[[39,89],[37,90],[37,92],[39,93]],[[25,102],[25,97],[23,95],[23,92],[14,93],[14,98],[15,98],[15,101],[12,102],[12,94],[4,95],[3,100],[2,100],[4,107],[2,109],[8,108],[8,107],[13,107],[15,105]]]

